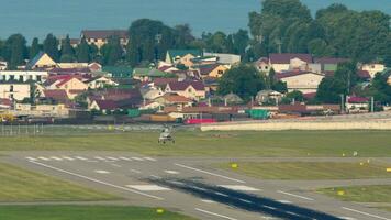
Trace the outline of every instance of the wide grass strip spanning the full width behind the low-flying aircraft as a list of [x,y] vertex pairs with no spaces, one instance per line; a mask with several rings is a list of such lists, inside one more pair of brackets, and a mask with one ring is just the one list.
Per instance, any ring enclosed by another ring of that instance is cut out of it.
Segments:
[[180,131],[176,144],[158,144],[158,132],[3,136],[0,151],[132,151],[155,156],[358,156],[391,155],[389,131]]

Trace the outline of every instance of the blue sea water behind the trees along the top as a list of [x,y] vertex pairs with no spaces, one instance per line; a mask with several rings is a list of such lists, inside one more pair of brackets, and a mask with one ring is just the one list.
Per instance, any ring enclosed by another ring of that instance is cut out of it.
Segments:
[[[139,18],[169,25],[189,23],[196,35],[217,30],[247,29],[248,12],[261,0],[0,0],[0,37],[22,33],[27,40],[79,36],[82,29],[127,29]],[[302,0],[314,13],[333,2],[355,10],[382,10],[391,14],[391,0]]]

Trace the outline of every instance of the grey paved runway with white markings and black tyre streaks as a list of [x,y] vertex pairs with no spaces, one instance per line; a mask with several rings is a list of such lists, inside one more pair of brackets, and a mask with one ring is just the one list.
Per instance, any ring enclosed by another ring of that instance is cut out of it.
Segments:
[[210,168],[213,158],[121,152],[8,154],[0,161],[120,195],[126,205],[167,207],[199,219],[391,220],[387,211],[303,190],[292,182],[266,182]]

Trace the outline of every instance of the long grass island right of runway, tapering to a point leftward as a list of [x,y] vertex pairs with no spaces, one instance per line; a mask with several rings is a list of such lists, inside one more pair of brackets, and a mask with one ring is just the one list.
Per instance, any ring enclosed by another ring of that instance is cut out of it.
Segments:
[[375,163],[333,163],[333,162],[241,162],[237,168],[230,164],[215,165],[217,168],[233,170],[262,179],[362,179],[391,178],[387,166]]

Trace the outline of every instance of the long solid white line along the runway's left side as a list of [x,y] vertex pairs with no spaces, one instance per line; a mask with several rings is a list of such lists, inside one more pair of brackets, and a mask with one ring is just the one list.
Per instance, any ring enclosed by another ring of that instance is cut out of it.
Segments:
[[68,170],[65,170],[65,169],[62,169],[62,168],[57,168],[55,166],[51,166],[51,165],[43,164],[43,163],[40,163],[40,162],[30,161],[30,163],[33,163],[33,164],[36,164],[36,165],[40,165],[40,166],[43,166],[43,167],[46,167],[46,168],[49,168],[49,169],[53,169],[53,170],[57,170],[57,172],[60,172],[60,173],[64,173],[64,174],[68,174],[68,175],[71,175],[71,176],[76,176],[76,177],[79,177],[79,178],[82,178],[82,179],[87,179],[89,182],[93,182],[93,183],[97,183],[97,184],[101,184],[101,185],[110,186],[110,187],[113,187],[113,188],[116,188],[116,189],[121,189],[121,190],[124,190],[124,191],[130,191],[130,193],[133,193],[133,194],[137,194],[137,195],[141,195],[141,196],[145,196],[145,197],[157,199],[157,200],[164,200],[164,198],[161,198],[161,197],[153,196],[153,195],[145,194],[145,193],[137,191],[137,190],[133,190],[133,189],[130,189],[130,188],[126,188],[126,187],[122,187],[122,186],[118,186],[118,185],[110,184],[110,183],[107,183],[107,182],[102,182],[102,180],[99,180],[99,179],[96,179],[96,178],[91,178],[91,177],[88,177],[88,176],[83,176],[81,174],[76,174],[76,173],[72,173],[72,172],[68,172]]

